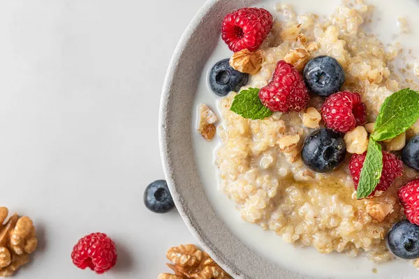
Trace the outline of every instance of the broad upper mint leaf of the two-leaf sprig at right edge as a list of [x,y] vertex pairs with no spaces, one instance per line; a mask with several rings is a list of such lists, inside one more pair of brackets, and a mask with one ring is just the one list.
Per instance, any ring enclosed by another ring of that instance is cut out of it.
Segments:
[[376,142],[391,140],[406,132],[419,118],[419,93],[409,88],[388,96],[376,119],[371,137]]

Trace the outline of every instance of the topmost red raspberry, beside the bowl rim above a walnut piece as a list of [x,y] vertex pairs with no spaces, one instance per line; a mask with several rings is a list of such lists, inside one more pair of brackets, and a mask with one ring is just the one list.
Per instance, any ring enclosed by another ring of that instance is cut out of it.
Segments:
[[251,52],[262,45],[273,26],[272,15],[263,8],[242,8],[224,17],[221,37],[233,52]]

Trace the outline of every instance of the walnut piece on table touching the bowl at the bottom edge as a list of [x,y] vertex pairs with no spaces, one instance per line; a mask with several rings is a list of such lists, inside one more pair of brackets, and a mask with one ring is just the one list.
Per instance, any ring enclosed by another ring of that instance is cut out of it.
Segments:
[[232,278],[211,259],[207,252],[193,244],[172,247],[166,257],[175,274],[161,273],[157,279],[227,279]]

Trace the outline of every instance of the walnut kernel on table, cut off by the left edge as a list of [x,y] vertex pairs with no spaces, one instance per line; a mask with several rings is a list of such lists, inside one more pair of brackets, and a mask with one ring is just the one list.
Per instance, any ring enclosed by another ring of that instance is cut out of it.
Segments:
[[8,209],[0,207],[0,277],[12,276],[27,264],[38,244],[31,218],[15,213],[5,223],[7,216]]

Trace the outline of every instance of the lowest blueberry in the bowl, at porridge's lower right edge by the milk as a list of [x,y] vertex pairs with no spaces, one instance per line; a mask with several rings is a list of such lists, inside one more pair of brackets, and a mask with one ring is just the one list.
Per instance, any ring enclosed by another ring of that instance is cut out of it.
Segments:
[[402,259],[419,258],[419,226],[408,220],[397,223],[387,236],[388,248]]

